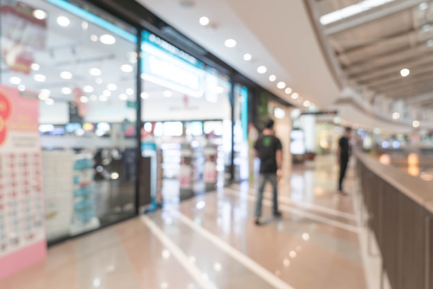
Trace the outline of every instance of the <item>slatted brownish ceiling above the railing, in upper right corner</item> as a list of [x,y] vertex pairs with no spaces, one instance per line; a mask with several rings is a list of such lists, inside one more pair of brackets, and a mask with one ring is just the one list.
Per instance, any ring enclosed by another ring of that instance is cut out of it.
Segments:
[[[374,95],[433,106],[432,1],[368,1],[383,5],[323,27],[349,84]],[[322,17],[365,3],[315,0],[315,8]],[[403,68],[410,71],[407,77],[400,75]]]

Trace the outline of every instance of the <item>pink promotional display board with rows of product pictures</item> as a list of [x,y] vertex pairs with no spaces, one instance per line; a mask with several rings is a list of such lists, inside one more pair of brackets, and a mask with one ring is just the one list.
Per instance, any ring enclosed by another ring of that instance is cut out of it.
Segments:
[[44,259],[39,100],[0,86],[0,279]]

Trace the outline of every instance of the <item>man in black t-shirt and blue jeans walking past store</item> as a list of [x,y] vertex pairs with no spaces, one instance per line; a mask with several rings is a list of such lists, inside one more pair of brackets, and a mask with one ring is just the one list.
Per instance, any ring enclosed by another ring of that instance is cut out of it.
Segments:
[[281,216],[278,211],[277,182],[282,177],[282,144],[275,137],[273,120],[266,122],[263,136],[255,142],[254,149],[256,156],[260,158],[259,192],[255,212],[255,223],[260,225],[261,201],[268,181],[273,187],[273,214],[277,217]]

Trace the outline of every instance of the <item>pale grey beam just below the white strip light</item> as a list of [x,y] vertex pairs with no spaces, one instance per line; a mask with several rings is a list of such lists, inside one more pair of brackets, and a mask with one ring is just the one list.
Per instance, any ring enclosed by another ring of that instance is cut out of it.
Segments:
[[365,15],[361,15],[359,17],[353,17],[349,20],[343,20],[341,24],[337,24],[326,28],[324,30],[325,35],[333,35],[338,32],[342,32],[344,30],[355,28],[362,24],[369,23],[371,21],[378,20],[383,17],[387,17],[389,15],[393,15],[395,13],[413,8],[414,6],[418,6],[419,4],[425,2],[425,0],[405,0],[400,3],[389,3],[381,9],[372,9],[374,12],[365,13]]

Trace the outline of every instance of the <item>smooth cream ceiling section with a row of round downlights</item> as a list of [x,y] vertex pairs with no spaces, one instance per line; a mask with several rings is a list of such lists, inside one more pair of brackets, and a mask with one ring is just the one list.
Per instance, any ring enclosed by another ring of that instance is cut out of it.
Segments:
[[[138,0],[165,22],[216,55],[243,75],[282,99],[302,106],[305,100],[324,107],[339,95],[339,85],[332,77],[322,53],[308,11],[302,1],[274,0]],[[190,5],[183,5],[188,3]],[[208,17],[210,25],[199,24]],[[226,39],[237,46],[227,48]],[[250,53],[247,62],[243,55]],[[257,72],[266,66],[266,73]],[[277,80],[270,82],[269,76]],[[299,93],[277,88],[278,82]]]

